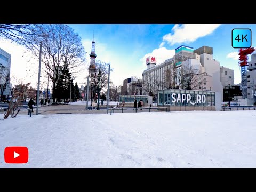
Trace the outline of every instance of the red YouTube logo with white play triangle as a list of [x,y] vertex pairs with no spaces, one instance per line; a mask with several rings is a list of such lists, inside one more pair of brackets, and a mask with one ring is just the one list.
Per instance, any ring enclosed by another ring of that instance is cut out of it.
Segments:
[[27,147],[5,147],[4,161],[5,163],[27,163],[28,148]]

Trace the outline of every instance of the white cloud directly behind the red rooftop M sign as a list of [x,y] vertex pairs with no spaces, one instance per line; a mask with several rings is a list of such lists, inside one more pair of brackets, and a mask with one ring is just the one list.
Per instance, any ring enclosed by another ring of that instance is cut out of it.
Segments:
[[167,59],[170,59],[175,54],[175,50],[168,50],[165,47],[160,47],[159,49],[154,49],[152,53],[148,53],[144,55],[143,58],[140,59],[140,61],[143,63],[143,65],[146,65],[146,58],[149,56],[156,57],[157,64],[164,62]]

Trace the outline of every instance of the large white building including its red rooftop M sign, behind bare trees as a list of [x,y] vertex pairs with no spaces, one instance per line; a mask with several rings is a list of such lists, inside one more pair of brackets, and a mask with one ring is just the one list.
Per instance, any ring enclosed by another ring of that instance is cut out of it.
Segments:
[[[152,58],[154,58],[153,62],[151,62]],[[148,69],[143,71],[142,81],[156,82],[153,89],[153,95],[157,95],[158,90],[168,89],[165,86],[167,79],[166,71],[170,71],[174,63],[175,67],[179,68],[180,66],[185,65],[185,62],[188,63],[189,66],[192,66],[194,70],[198,70],[198,74],[202,75],[200,78],[202,85],[198,86],[196,89],[202,91],[221,92],[223,101],[223,85],[220,79],[220,63],[213,58],[213,49],[208,46],[202,46],[199,49],[194,50],[193,47],[181,45],[175,49],[175,55],[173,58],[167,59],[159,65],[156,65],[155,57],[148,57],[146,59]],[[233,79],[234,82],[234,71],[232,77],[233,78],[231,79]],[[177,78],[179,78],[178,75]],[[148,94],[148,91],[145,91],[145,84],[143,84],[142,89],[142,94]],[[181,89],[181,87],[179,87],[179,89]]]

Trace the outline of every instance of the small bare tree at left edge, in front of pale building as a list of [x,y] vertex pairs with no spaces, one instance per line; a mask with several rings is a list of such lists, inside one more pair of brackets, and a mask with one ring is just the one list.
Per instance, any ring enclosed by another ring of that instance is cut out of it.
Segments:
[[0,91],[1,101],[3,101],[4,91],[10,86],[10,70],[0,63]]

